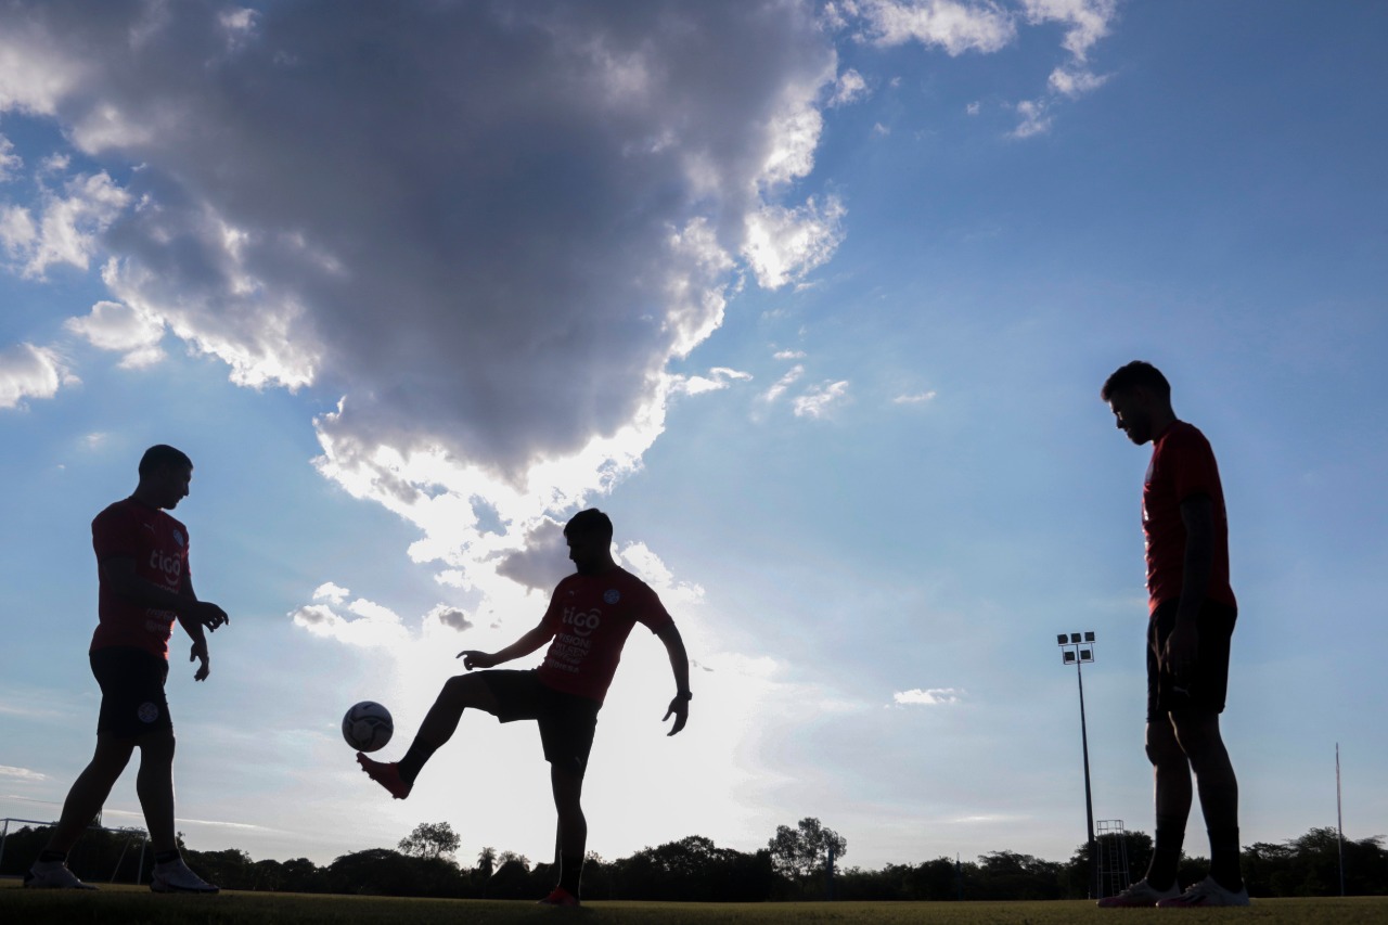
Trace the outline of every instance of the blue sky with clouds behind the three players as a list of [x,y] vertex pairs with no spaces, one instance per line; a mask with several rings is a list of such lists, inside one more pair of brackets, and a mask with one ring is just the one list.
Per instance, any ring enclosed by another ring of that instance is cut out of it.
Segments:
[[[168,693],[189,847],[547,860],[532,726],[404,753],[597,506],[633,633],[607,858],[816,817],[876,868],[1151,832],[1144,358],[1210,439],[1241,838],[1388,833],[1388,7],[1196,0],[71,0],[0,7],[0,817],[94,742],[90,519],[140,453],[229,626]],[[1380,579],[1374,579],[1378,575]],[[516,662],[529,667],[539,656]],[[133,771],[107,825],[142,825]],[[1187,850],[1206,853],[1198,814]]]

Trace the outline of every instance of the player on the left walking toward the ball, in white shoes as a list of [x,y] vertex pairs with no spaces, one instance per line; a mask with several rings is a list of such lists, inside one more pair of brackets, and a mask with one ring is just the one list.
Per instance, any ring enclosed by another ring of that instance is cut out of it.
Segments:
[[25,886],[96,889],[68,869],[68,851],[90,825],[130,756],[140,750],[135,790],[154,846],[157,893],[215,893],[183,864],[174,839],[174,724],[164,682],[168,643],[178,622],[193,640],[196,681],[211,671],[204,628],[228,622],[217,604],[193,593],[187,528],[165,514],[187,497],[193,462],[171,446],[151,446],[140,458],[135,493],[92,521],[99,592],[92,674],[101,686],[96,754],[62,804],[47,847],[25,874]]

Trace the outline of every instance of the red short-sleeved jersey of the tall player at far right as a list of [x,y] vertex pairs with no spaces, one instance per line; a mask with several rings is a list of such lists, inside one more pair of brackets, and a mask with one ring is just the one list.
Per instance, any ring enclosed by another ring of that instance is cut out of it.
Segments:
[[1181,596],[1185,576],[1185,522],[1181,501],[1206,494],[1214,515],[1214,561],[1206,596],[1237,607],[1228,582],[1228,517],[1224,489],[1209,440],[1194,425],[1176,421],[1152,442],[1152,461],[1142,485],[1142,533],[1146,536],[1146,593],[1152,611]]

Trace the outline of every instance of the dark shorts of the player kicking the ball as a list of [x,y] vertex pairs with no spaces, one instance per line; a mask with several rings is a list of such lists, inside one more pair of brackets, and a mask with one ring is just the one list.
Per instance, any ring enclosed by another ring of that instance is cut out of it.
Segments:
[[483,671],[477,676],[497,699],[496,717],[500,722],[534,719],[540,726],[544,760],[583,776],[601,703],[555,690],[534,671]]

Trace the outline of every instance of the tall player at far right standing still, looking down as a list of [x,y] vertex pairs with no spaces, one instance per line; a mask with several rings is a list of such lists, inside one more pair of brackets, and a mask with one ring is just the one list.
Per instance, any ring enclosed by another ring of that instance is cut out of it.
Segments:
[[[1102,907],[1248,906],[1238,858],[1238,781],[1220,738],[1228,650],[1238,615],[1228,582],[1228,521],[1214,453],[1171,410],[1156,367],[1133,361],[1099,392],[1120,431],[1152,442],[1142,485],[1149,600],[1146,754],[1156,778],[1156,843],[1146,875]],[[1176,882],[1191,772],[1210,839],[1210,871],[1184,893]]]

